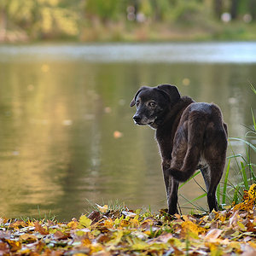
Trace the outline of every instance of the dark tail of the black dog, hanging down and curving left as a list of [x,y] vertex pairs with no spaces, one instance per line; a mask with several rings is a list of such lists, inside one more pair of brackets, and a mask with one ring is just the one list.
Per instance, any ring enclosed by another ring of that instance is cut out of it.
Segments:
[[189,120],[188,131],[188,148],[184,156],[183,166],[180,170],[175,167],[175,163],[168,170],[178,182],[185,182],[189,179],[197,169],[201,157],[201,149],[203,147],[203,139],[207,126],[207,118],[194,116]]

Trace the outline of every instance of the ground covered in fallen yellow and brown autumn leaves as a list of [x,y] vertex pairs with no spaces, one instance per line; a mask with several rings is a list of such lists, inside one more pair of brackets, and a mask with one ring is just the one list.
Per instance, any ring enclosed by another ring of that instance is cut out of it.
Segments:
[[256,255],[255,192],[207,215],[97,206],[69,223],[0,218],[0,255]]

